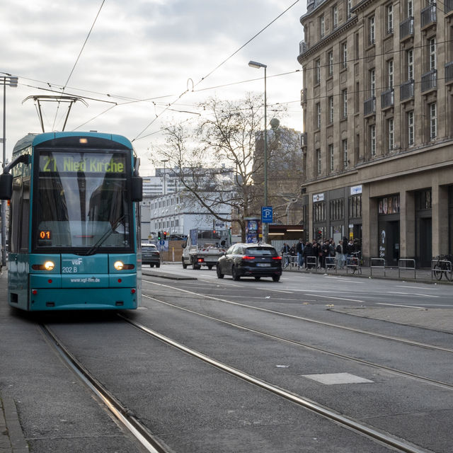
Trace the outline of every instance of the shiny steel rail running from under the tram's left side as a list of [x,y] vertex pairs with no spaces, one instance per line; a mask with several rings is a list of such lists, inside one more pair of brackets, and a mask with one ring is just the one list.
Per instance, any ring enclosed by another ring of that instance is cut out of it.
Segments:
[[58,337],[53,333],[49,327],[44,324],[40,325],[42,332],[45,334],[45,338],[49,341],[50,345],[58,352],[60,357],[63,358],[64,362],[72,369],[79,379],[88,386],[88,389],[93,391],[98,398],[103,401],[113,416],[122,423],[125,428],[131,433],[131,435],[146,449],[149,453],[167,453],[169,450],[164,448],[161,443],[156,440],[147,428],[139,423],[137,418],[130,413],[130,411],[122,406],[119,401],[116,400],[97,380],[93,375],[86,369],[74,355],[62,345]]

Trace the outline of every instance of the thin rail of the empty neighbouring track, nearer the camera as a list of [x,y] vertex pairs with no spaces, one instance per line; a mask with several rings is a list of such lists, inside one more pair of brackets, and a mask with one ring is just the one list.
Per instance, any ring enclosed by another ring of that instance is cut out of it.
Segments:
[[[379,364],[374,363],[374,362],[369,362],[368,360],[358,359],[357,357],[351,357],[349,355],[341,354],[340,352],[333,352],[331,350],[327,350],[327,349],[324,349],[324,348],[318,348],[316,346],[307,345],[306,343],[302,343],[302,342],[299,342],[299,341],[296,341],[296,340],[289,340],[289,338],[283,338],[283,337],[280,337],[280,336],[273,335],[272,333],[259,331],[259,330],[255,329],[255,328],[251,328],[251,327],[248,327],[248,326],[242,326],[241,324],[238,324],[238,323],[232,323],[231,321],[225,321],[224,319],[219,319],[219,318],[217,318],[215,316],[211,316],[211,315],[208,315],[208,314],[200,313],[200,312],[192,310],[192,309],[187,309],[187,308],[181,307],[181,306],[179,306],[177,304],[172,304],[171,302],[166,302],[166,301],[157,299],[156,297],[147,296],[146,294],[142,294],[142,297],[146,297],[147,299],[154,300],[155,302],[159,302],[161,304],[166,304],[168,306],[173,306],[176,309],[180,309],[182,311],[186,311],[186,312],[191,313],[191,314],[196,314],[198,316],[202,316],[204,318],[211,319],[212,321],[217,321],[217,322],[224,323],[224,324],[226,324],[228,326],[231,326],[231,327],[239,328],[239,329],[241,329],[243,331],[248,331],[248,332],[251,332],[251,333],[257,333],[260,336],[265,336],[265,337],[271,338],[273,340],[277,340],[277,341],[281,341],[281,342],[284,342],[284,343],[288,343],[290,345],[298,346],[298,347],[304,348],[306,350],[312,350],[312,351],[315,351],[315,352],[321,352],[321,353],[323,353],[325,355],[331,355],[332,357],[337,357],[337,358],[340,358],[342,360],[348,360],[350,362],[355,362],[355,363],[357,363],[359,365],[366,365],[368,367],[373,367],[375,369],[380,369],[382,371],[391,372],[391,373],[396,374],[398,376],[415,379],[416,381],[423,382],[424,384],[431,384],[431,385],[442,387],[443,389],[447,389],[447,390],[451,390],[451,391],[453,390],[453,384],[448,384],[447,382],[442,382],[442,381],[438,381],[436,379],[431,379],[429,377],[420,376],[418,374],[414,374],[414,373],[411,373],[411,372],[406,372],[406,371],[403,371],[401,369],[387,367],[385,365],[379,365]],[[125,317],[125,316],[122,316],[122,317],[127,319],[127,317]],[[129,321],[129,319],[127,319],[127,321]]]

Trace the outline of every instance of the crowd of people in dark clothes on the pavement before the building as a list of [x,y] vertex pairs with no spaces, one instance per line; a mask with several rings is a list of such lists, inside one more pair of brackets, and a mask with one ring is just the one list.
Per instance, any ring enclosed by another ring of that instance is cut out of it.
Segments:
[[[314,268],[326,268],[326,258],[336,258],[337,267],[343,269],[345,267],[348,257],[352,256],[352,253],[360,251],[360,242],[356,239],[352,241],[346,237],[343,240],[338,241],[338,244],[333,239],[324,239],[323,241],[306,241],[299,239],[298,243],[293,246],[289,246],[286,242],[282,246],[282,255],[297,256],[297,267],[306,269]],[[307,259],[309,257],[316,257],[316,260]],[[333,263],[333,261],[331,261]]]

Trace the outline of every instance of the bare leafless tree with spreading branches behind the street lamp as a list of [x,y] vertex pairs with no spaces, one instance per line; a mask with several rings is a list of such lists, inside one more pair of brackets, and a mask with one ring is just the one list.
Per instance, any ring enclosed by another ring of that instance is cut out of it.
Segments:
[[[221,222],[239,224],[245,241],[246,217],[257,216],[263,199],[263,159],[257,159],[256,154],[263,137],[262,98],[251,94],[242,101],[210,98],[200,107],[204,115],[195,130],[183,125],[167,127],[166,141],[157,147],[159,156],[151,160],[158,166],[159,160],[168,159],[186,197],[192,197]],[[278,134],[268,147],[271,164],[281,160],[280,154],[285,157],[286,164],[276,166],[282,166],[278,178],[288,166],[294,168],[292,159],[287,159],[294,154],[294,147],[282,146],[288,137]],[[226,211],[231,214],[219,214]]]

